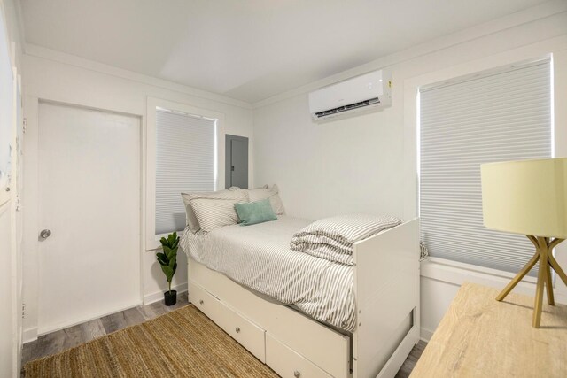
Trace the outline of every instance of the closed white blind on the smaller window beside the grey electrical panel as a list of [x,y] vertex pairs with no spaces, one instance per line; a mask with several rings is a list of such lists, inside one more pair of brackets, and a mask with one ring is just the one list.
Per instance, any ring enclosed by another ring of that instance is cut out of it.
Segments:
[[158,110],[156,235],[185,228],[182,192],[215,189],[215,120]]

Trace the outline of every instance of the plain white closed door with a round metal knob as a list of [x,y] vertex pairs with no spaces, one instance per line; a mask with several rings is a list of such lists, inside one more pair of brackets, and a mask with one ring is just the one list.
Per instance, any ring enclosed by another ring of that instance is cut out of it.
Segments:
[[134,116],[39,105],[39,334],[142,302],[140,135]]

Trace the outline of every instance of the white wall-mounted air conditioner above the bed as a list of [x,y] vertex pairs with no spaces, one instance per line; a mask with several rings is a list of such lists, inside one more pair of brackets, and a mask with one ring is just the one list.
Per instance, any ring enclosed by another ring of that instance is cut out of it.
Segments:
[[391,87],[390,73],[366,73],[311,92],[309,111],[314,120],[320,121],[378,110],[392,104]]

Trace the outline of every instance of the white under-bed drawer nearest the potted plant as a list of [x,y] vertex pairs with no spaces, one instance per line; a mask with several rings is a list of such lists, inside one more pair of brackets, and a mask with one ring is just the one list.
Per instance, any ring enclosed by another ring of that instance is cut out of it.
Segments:
[[190,301],[257,359],[266,362],[265,331],[198,284],[190,283]]

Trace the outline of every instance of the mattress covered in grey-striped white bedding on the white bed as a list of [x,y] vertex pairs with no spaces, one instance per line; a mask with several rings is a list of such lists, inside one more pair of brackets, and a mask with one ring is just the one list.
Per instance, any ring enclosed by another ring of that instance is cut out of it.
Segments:
[[186,230],[182,250],[241,285],[294,305],[315,320],[352,332],[356,324],[353,267],[291,251],[291,236],[310,220],[285,215],[252,226]]

